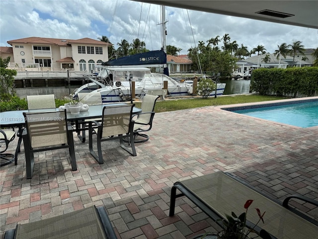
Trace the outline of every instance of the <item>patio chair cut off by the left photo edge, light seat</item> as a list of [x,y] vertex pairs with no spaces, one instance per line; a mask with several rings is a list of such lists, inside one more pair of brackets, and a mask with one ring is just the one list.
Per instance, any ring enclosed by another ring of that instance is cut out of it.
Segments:
[[5,153],[8,149],[9,143],[15,138],[15,132],[9,129],[0,129],[0,167],[15,161],[15,155],[12,153]]

